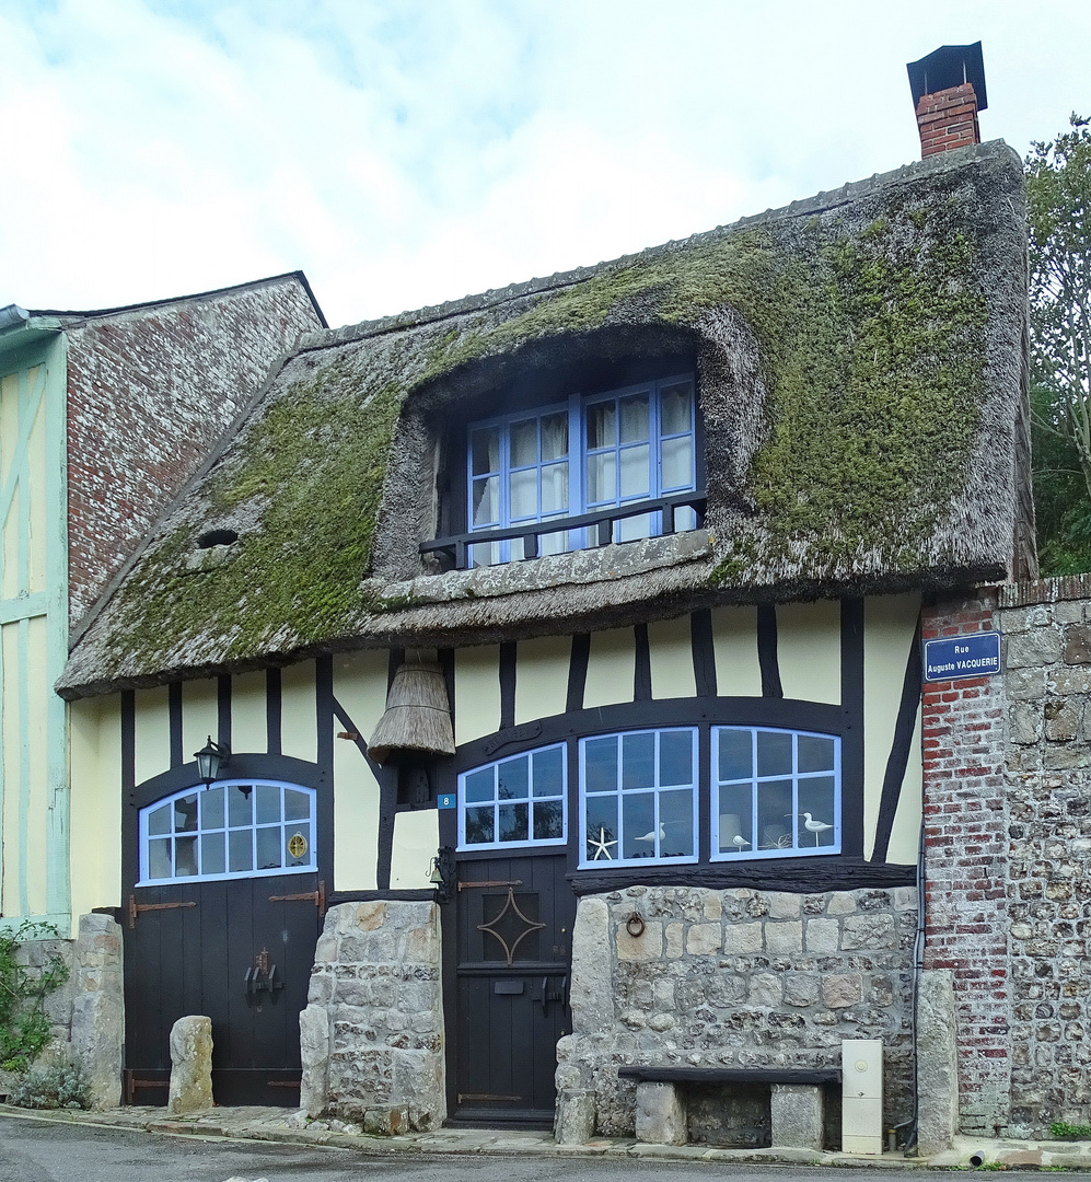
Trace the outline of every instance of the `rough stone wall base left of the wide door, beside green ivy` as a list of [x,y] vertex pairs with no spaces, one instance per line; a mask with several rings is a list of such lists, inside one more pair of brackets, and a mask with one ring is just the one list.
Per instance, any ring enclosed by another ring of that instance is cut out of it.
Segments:
[[[37,1065],[78,1059],[90,1076],[92,1106],[117,1108],[125,1030],[121,928],[109,915],[82,915],[76,940],[28,940],[18,955],[32,973],[54,955],[69,968],[69,980],[45,998],[52,1040]],[[0,1092],[12,1082],[0,1072]]]

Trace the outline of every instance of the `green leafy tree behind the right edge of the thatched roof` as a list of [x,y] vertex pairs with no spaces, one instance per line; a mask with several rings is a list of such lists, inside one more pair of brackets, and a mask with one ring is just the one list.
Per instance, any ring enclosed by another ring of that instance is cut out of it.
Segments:
[[1091,570],[1091,131],[1031,147],[1034,504],[1044,574]]

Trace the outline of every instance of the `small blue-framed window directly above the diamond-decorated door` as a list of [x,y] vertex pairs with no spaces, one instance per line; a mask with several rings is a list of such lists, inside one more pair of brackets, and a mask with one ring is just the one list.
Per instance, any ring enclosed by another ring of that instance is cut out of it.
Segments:
[[567,756],[564,743],[485,764],[459,777],[459,849],[564,845]]

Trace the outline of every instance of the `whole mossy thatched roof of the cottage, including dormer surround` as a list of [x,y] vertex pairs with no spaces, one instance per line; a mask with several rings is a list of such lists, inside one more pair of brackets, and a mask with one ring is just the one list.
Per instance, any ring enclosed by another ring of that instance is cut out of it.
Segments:
[[[118,580],[60,691],[1004,578],[1025,479],[1022,200],[998,142],[306,338]],[[707,533],[427,573],[437,422],[528,369],[680,352]],[[209,547],[214,531],[238,540]]]

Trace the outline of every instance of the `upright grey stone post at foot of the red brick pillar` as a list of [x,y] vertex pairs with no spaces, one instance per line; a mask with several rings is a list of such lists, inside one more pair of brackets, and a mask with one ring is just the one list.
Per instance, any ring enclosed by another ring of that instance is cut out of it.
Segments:
[[917,1152],[949,1149],[959,1130],[959,1015],[955,974],[927,969],[917,986]]

